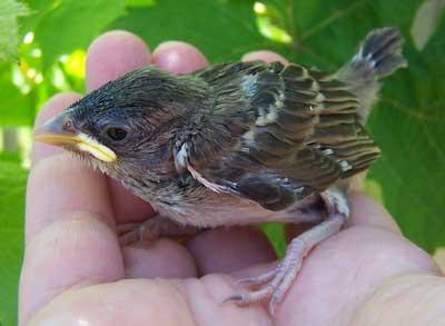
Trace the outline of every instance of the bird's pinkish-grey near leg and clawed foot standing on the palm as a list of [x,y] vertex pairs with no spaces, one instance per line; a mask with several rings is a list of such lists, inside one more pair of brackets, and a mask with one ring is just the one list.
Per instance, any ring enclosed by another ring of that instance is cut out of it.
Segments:
[[[269,312],[275,314],[276,305],[281,302],[301,268],[303,259],[316,245],[338,233],[349,217],[346,195],[337,189],[320,194],[327,209],[327,217],[312,229],[294,238],[287,247],[285,258],[271,270],[238,283],[259,286],[254,292],[230,296],[226,300],[250,304],[269,299]],[[320,211],[320,214],[323,214]],[[300,218],[296,217],[296,220]]]

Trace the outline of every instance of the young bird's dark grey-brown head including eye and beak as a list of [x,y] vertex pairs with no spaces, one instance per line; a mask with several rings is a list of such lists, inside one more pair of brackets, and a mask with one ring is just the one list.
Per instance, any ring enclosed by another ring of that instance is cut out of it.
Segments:
[[156,181],[174,172],[172,142],[202,90],[195,83],[152,67],[135,70],[72,103],[38,128],[34,139],[76,152],[118,179]]

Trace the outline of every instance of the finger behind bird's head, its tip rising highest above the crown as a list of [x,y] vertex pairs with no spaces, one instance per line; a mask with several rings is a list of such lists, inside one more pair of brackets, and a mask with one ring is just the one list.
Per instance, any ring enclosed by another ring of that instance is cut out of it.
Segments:
[[[152,62],[150,50],[137,36],[126,31],[110,31],[96,39],[87,55],[87,89],[89,91],[118,78],[127,71]],[[117,223],[132,223],[152,216],[149,204],[109,182],[110,197]]]

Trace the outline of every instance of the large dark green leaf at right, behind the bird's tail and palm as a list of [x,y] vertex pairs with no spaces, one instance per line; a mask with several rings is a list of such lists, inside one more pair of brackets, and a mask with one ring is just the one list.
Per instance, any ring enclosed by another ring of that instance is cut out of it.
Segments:
[[409,68],[384,86],[370,127],[383,158],[369,175],[405,235],[434,251],[445,245],[445,26],[425,51],[407,47]]

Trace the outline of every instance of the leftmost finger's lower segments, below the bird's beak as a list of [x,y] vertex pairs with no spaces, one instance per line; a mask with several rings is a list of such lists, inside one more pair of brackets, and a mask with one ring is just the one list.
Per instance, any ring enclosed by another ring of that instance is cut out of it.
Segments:
[[21,320],[75,285],[123,277],[105,177],[68,154],[39,159],[28,179]]

